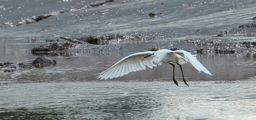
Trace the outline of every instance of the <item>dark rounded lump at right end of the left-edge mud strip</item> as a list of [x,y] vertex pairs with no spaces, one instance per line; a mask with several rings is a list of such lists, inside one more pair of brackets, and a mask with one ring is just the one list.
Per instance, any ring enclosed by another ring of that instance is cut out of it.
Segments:
[[50,66],[51,64],[56,65],[56,63],[55,60],[51,61],[43,57],[38,57],[32,62],[32,65],[35,67],[45,67]]

